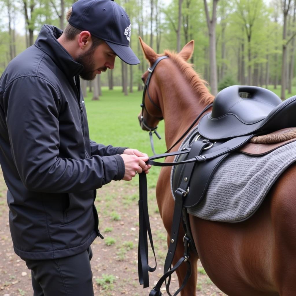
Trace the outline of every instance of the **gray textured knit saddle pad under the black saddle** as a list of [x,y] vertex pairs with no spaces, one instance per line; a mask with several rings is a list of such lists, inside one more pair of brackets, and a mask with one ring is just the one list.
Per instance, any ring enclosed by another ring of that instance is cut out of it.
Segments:
[[[193,133],[186,137],[180,149]],[[264,156],[233,153],[215,171],[204,199],[187,211],[211,221],[246,220],[259,208],[276,179],[295,161],[296,141]]]

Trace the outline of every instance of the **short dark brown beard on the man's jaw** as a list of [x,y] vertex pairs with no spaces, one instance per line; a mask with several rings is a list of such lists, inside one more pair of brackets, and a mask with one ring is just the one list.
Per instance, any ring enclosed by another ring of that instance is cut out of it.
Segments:
[[75,62],[83,65],[83,71],[79,74],[83,80],[94,80],[96,77],[96,71],[100,70],[102,72],[107,71],[107,67],[102,67],[99,69],[95,69],[94,65],[94,50],[96,47],[91,47],[87,52],[80,54],[76,59]]

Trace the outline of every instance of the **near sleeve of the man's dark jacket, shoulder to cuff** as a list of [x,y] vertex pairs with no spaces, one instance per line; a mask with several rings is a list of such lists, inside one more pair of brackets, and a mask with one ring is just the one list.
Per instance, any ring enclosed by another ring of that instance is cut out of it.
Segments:
[[124,167],[120,155],[93,155],[88,159],[58,157],[60,106],[58,89],[43,78],[17,78],[4,92],[12,158],[28,190],[87,191],[112,179],[122,179]]

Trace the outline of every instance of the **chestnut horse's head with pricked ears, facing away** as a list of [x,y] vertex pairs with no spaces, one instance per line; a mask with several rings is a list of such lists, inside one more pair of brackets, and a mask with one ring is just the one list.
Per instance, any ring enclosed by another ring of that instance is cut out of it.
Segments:
[[[141,77],[142,81],[145,84],[145,87],[141,104],[142,111],[140,112],[138,119],[143,130],[153,131],[157,128],[157,124],[159,123],[159,121],[164,118],[164,108],[162,100],[163,91],[160,89],[160,83],[158,82],[157,78],[167,77],[168,75],[166,71],[168,69],[165,69],[165,66],[158,66],[157,75],[152,75],[152,73],[158,62],[169,57],[170,52],[166,51],[164,54],[157,54],[150,46],[145,44],[141,37],[139,37],[139,39],[144,55],[150,63],[150,67]],[[178,56],[187,61],[191,57],[193,49],[194,41],[192,40],[184,46],[181,52],[178,53]],[[166,61],[166,63],[172,63],[172,61]]]

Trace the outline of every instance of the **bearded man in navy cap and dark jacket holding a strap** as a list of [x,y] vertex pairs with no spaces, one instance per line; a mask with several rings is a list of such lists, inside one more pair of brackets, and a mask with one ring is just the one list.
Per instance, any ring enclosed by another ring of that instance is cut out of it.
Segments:
[[111,0],[79,0],[63,33],[44,25],[0,79],[0,163],[14,250],[31,269],[34,296],[93,295],[91,243],[99,232],[95,189],[148,173],[135,149],[89,139],[79,75],[114,68],[131,23]]

